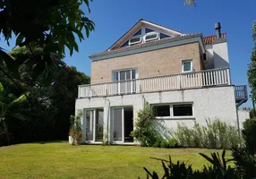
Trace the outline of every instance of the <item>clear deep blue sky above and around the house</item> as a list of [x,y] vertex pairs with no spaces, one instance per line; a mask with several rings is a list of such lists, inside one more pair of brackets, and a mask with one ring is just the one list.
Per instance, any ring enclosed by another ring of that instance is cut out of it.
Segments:
[[[141,18],[183,33],[201,32],[203,36],[215,35],[214,24],[219,21],[222,32],[226,32],[231,81],[247,85],[255,7],[256,0],[196,0],[195,7],[184,5],[183,0],[94,0],[90,14],[85,6],[82,10],[95,22],[95,31],[78,43],[79,53],[67,53],[64,61],[90,75],[88,56],[106,50]],[[7,47],[0,41],[5,49],[11,50],[12,45]],[[243,107],[252,107],[252,101]]]

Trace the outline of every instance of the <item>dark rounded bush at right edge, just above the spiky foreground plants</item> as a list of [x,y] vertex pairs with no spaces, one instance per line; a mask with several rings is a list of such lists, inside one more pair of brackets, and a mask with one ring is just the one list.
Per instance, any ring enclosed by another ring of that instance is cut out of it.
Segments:
[[243,139],[247,149],[254,154],[256,152],[256,117],[247,119],[243,123]]

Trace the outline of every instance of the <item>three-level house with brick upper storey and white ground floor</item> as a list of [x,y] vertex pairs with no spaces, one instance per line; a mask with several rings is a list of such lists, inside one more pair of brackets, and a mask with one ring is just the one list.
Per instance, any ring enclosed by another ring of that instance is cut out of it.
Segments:
[[220,119],[239,128],[237,108],[246,86],[231,82],[226,34],[172,30],[140,20],[106,51],[90,55],[91,84],[80,85],[76,110],[83,110],[83,142],[133,144],[130,136],[145,101],[159,131],[178,123]]

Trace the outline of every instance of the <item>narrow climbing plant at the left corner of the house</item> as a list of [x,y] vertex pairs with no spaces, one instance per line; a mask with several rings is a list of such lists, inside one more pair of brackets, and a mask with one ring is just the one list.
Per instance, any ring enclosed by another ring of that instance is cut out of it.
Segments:
[[78,111],[77,115],[70,116],[70,132],[69,135],[73,138],[73,145],[81,144],[81,118],[82,118],[82,111]]

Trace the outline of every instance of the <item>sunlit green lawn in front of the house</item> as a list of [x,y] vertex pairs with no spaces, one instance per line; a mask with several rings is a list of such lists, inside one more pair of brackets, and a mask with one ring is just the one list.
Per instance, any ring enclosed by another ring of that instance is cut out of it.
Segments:
[[0,148],[0,178],[146,178],[143,166],[162,173],[161,162],[149,157],[167,159],[171,155],[174,161],[181,160],[201,169],[207,162],[199,152],[209,155],[212,151],[72,146],[67,142],[18,144]]

